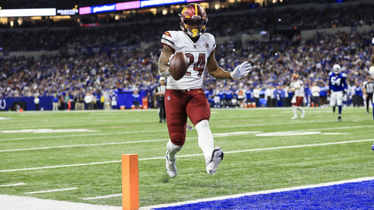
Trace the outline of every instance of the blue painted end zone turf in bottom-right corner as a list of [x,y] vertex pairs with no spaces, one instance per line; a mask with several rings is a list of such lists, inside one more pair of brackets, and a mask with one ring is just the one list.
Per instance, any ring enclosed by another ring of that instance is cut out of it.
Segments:
[[155,210],[374,209],[374,180],[251,195]]

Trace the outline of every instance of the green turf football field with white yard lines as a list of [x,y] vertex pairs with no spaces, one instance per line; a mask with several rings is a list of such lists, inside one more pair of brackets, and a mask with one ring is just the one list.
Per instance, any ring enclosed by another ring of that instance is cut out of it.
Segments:
[[[371,113],[343,108],[338,122],[331,108],[305,110],[291,120],[291,108],[212,109],[224,160],[209,176],[197,132],[187,131],[175,178],[156,109],[0,112],[0,194],[122,206],[120,161],[129,153],[139,157],[141,207],[373,176]],[[24,184],[3,186],[16,183]],[[64,190],[39,192],[55,189]]]

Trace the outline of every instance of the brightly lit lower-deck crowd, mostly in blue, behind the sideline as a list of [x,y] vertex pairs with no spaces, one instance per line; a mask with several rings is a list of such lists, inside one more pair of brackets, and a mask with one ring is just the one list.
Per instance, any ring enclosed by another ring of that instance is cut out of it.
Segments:
[[[243,60],[249,60],[253,69],[237,81],[216,80],[205,74],[208,81],[205,83],[206,93],[212,98],[216,88],[228,90],[233,97],[239,87],[265,90],[271,86],[275,90],[279,86],[284,90],[292,73],[302,75],[307,87],[313,82],[325,87],[328,72],[335,63],[340,64],[342,72],[348,75],[350,87],[358,87],[370,75],[367,68],[373,36],[373,31],[317,33],[300,44],[286,38],[271,42],[252,40],[248,47],[242,49],[234,49],[231,42],[222,44],[216,53],[220,66],[232,71]],[[160,49],[157,46],[147,50],[107,48],[98,53],[70,55],[60,52],[54,56],[43,55],[39,60],[23,57],[1,60],[0,98],[53,94],[74,96],[86,92],[98,95],[102,91],[113,90],[153,93],[158,85]],[[251,92],[247,93],[247,98],[253,100]]]

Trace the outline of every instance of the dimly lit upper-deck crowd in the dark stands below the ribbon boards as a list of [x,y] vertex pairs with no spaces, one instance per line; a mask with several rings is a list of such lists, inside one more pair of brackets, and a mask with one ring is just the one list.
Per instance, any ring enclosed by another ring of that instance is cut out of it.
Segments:
[[[245,8],[245,7],[244,7]],[[358,4],[355,6],[326,7],[324,9],[292,9],[274,10],[272,7],[258,10],[240,10],[226,15],[214,13],[231,11],[227,8],[211,10],[209,14],[209,33],[215,37],[231,36],[239,32],[251,33],[251,30],[273,30],[284,25],[313,25],[314,28],[331,28],[342,26],[360,26],[373,24],[374,4]],[[148,20],[145,23],[137,21]],[[281,20],[281,21],[279,21]],[[151,13],[137,13],[129,19],[93,28],[72,27],[70,29],[39,31],[22,31],[0,33],[1,47],[7,51],[59,50],[67,46],[97,47],[112,46],[118,43],[138,43],[159,41],[159,34],[167,30],[179,30],[178,18],[175,13],[154,16]],[[121,22],[127,22],[122,24]],[[57,24],[54,23],[54,24]],[[68,22],[68,26],[72,23]],[[61,25],[56,25],[61,26]],[[22,27],[22,26],[21,26]],[[131,28],[131,30],[129,30]],[[149,33],[144,33],[148,31]],[[23,38],[27,37],[27,38]]]

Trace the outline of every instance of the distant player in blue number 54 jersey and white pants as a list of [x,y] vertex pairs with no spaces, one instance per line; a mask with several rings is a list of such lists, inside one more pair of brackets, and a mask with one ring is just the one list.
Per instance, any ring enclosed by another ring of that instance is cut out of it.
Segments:
[[347,90],[347,74],[341,73],[340,71],[340,65],[335,64],[332,67],[332,72],[328,74],[330,106],[332,106],[332,112],[335,112],[335,106],[338,106],[338,121],[341,121],[341,105],[343,104],[343,98]]

